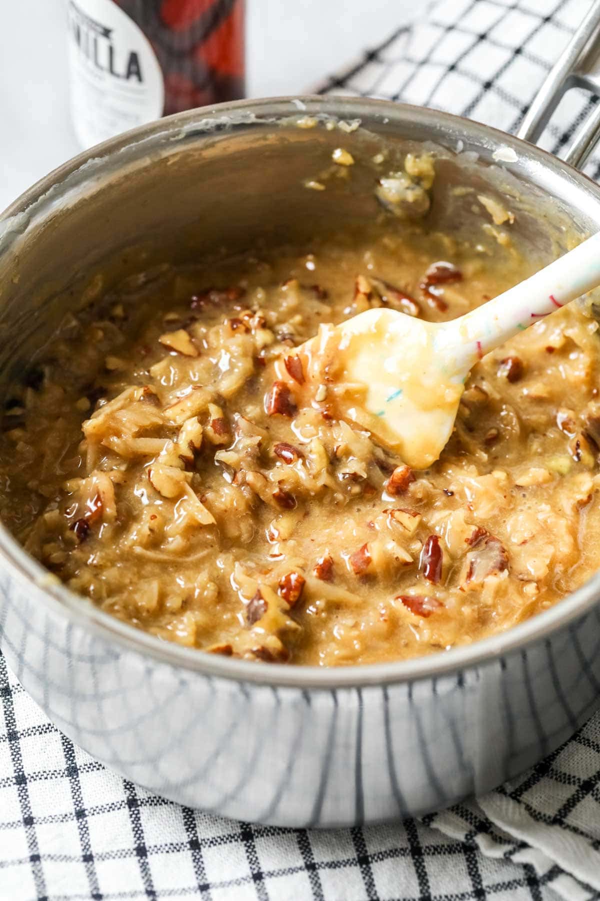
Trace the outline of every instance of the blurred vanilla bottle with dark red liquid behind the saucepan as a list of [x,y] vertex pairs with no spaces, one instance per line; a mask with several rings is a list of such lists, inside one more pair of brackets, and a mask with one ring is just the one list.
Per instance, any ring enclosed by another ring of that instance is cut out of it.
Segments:
[[244,96],[244,0],[68,0],[71,111],[85,147]]

